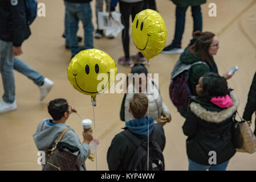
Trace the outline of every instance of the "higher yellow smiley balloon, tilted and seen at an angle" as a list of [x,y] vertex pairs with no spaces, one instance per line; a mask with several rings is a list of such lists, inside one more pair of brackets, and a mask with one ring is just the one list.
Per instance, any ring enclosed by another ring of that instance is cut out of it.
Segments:
[[132,22],[132,39],[147,60],[159,55],[166,43],[166,25],[154,10],[143,10]]

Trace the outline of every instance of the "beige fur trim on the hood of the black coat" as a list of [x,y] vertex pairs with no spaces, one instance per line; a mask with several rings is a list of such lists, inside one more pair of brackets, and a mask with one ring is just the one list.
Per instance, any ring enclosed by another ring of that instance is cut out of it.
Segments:
[[225,121],[227,118],[230,118],[233,113],[238,108],[239,100],[235,93],[230,92],[230,98],[233,101],[233,105],[223,109],[221,111],[209,111],[202,107],[200,104],[196,102],[192,102],[190,104],[191,111],[196,114],[197,117],[203,119],[207,122],[221,123]]

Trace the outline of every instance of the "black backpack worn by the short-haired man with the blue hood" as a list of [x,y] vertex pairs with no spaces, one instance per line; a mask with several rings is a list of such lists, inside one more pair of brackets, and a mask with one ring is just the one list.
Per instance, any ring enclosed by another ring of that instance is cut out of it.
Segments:
[[159,140],[157,137],[160,132],[159,124],[154,125],[154,129],[149,137],[149,165],[148,165],[148,137],[143,138],[139,135],[133,134],[131,131],[122,131],[123,135],[127,137],[137,148],[132,159],[129,162],[128,171],[164,171],[164,156]]

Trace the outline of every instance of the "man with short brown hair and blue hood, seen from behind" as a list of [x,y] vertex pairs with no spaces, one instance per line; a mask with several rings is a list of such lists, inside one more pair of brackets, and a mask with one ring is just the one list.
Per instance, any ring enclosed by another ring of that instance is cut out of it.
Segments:
[[[139,148],[135,143],[141,144],[143,141],[147,141],[148,136],[150,138],[149,142],[153,140],[159,145],[161,152],[164,150],[164,129],[161,125],[154,124],[153,118],[147,115],[147,111],[147,96],[141,93],[134,94],[131,100],[129,100],[128,112],[131,119],[125,122],[124,131],[115,135],[112,139],[111,146],[108,148],[107,162],[110,171],[134,170],[135,166],[133,166],[133,164],[136,162],[133,159],[137,157],[136,150]],[[129,135],[127,133],[129,133]],[[133,139],[131,140],[131,138],[127,136],[131,136]],[[135,142],[135,140],[137,142]],[[153,155],[153,150],[151,150],[149,155]],[[143,156],[141,156],[141,158]],[[149,156],[149,159],[152,157],[154,156]],[[158,164],[159,161],[157,161],[157,164],[152,166],[152,168],[158,166]],[[142,169],[139,168],[138,170]]]

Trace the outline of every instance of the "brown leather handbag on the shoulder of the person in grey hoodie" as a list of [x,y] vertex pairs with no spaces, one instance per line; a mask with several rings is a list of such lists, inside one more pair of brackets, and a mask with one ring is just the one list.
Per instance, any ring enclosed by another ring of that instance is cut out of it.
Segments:
[[[43,171],[72,171],[75,168],[76,161],[78,159],[77,155],[71,154],[71,152],[62,150],[63,144],[60,145],[60,140],[62,140],[63,135],[70,129],[66,129],[60,135],[58,142],[55,147],[51,149],[50,154],[47,154],[47,162],[43,165]],[[64,143],[67,144],[67,143]],[[68,144],[67,144],[68,145]],[[62,146],[62,147],[60,147]],[[72,147],[72,146],[70,146]],[[62,148],[62,149],[60,149]],[[74,147],[76,148],[76,147]],[[76,148],[79,150],[79,148]]]

